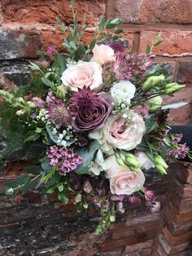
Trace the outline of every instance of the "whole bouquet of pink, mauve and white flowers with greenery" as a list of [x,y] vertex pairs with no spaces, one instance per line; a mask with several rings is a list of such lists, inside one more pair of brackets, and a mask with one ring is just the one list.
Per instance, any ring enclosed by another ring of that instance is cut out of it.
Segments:
[[[79,210],[94,205],[102,215],[96,234],[101,234],[124,213],[124,204],[146,200],[152,212],[159,210],[154,192],[144,187],[142,170],[154,167],[166,174],[168,164],[186,155],[181,135],[168,133],[168,108],[162,95],[173,96],[183,88],[164,77],[154,64],[152,48],[135,54],[120,39],[119,19],[101,20],[93,41],[82,41],[86,17],[68,27],[59,16],[59,31],[68,34],[63,52],[49,46],[42,58],[48,66],[30,63],[34,75],[27,86],[13,92],[0,90],[2,158],[20,152],[33,166],[7,183],[7,195],[38,188],[56,192],[60,201],[74,201]],[[35,148],[36,154],[30,152]]]

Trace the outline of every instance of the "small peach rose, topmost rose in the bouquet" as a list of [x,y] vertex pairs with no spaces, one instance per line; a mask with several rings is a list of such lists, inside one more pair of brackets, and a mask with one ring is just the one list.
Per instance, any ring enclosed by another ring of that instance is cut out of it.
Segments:
[[115,53],[110,46],[96,44],[93,49],[93,57],[91,61],[95,61],[99,64],[104,64],[108,61],[115,61]]

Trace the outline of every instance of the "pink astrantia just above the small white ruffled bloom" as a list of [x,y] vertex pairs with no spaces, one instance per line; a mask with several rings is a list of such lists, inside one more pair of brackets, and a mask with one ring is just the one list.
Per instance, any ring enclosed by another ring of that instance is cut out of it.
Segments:
[[131,66],[126,53],[122,52],[116,56],[116,61],[113,64],[113,72],[117,79],[129,80],[132,76]]

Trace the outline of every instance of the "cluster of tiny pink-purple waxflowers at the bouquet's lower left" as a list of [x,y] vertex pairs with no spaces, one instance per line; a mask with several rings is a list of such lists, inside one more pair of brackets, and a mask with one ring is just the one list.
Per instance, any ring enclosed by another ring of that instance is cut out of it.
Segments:
[[75,170],[83,162],[83,159],[72,149],[51,146],[46,154],[50,158],[50,166],[59,165],[59,174],[61,175],[66,175],[69,171]]

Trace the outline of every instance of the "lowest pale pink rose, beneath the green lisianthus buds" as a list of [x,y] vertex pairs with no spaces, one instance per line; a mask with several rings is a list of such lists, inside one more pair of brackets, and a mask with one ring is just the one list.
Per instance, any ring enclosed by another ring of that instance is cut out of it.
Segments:
[[143,187],[145,176],[142,170],[133,173],[128,166],[119,166],[114,155],[107,158],[110,168],[106,170],[109,179],[111,194],[131,195]]

